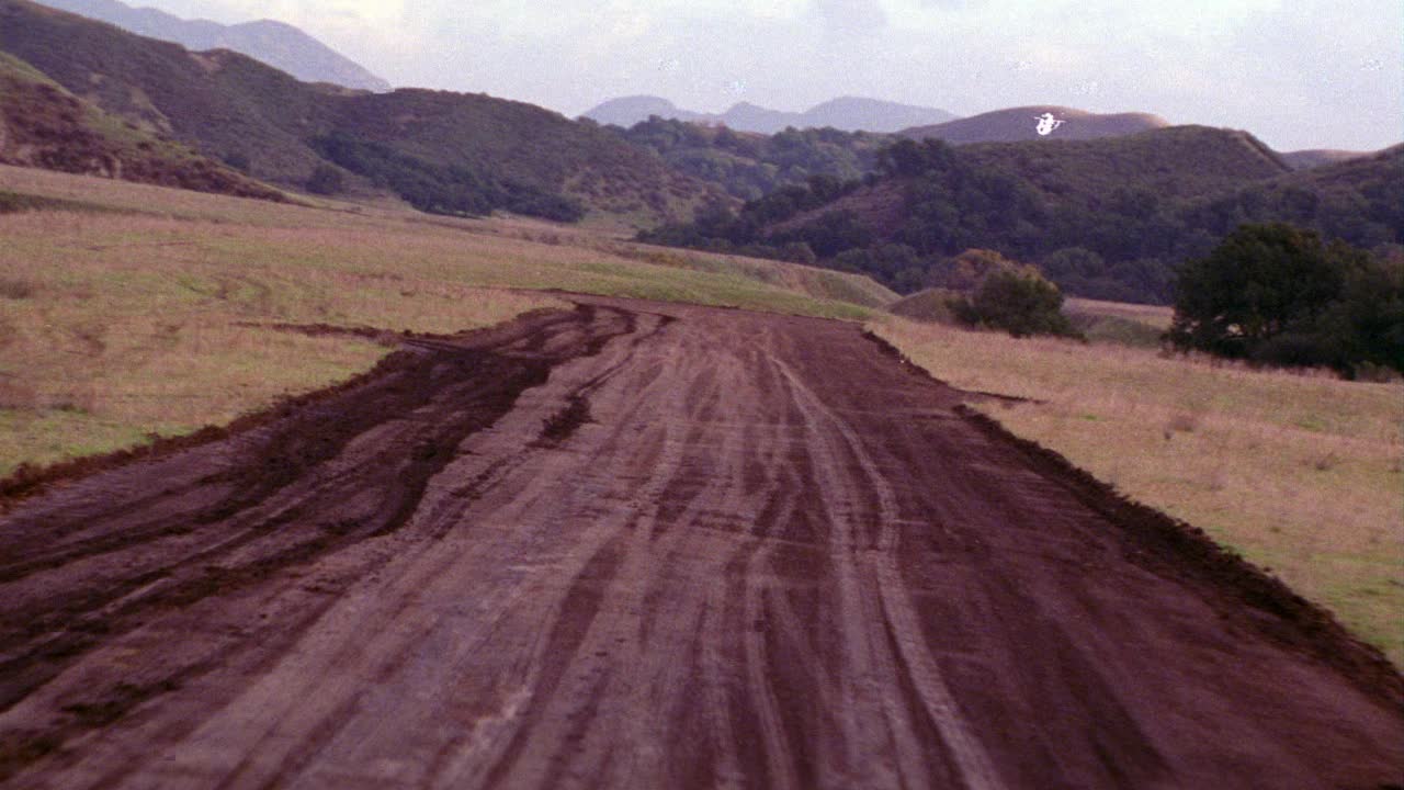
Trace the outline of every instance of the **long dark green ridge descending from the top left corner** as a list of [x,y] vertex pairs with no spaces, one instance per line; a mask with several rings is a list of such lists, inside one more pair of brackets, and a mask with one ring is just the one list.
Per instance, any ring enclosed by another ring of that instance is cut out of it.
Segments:
[[[234,52],[187,52],[27,0],[0,0],[0,49],[111,114],[292,188],[393,193],[446,212],[480,204],[560,218],[571,207],[573,216],[637,225],[685,216],[719,194],[591,124],[538,107],[300,83]],[[372,145],[389,152],[333,163],[317,142],[333,135],[362,153]],[[441,205],[442,195],[455,200]]]

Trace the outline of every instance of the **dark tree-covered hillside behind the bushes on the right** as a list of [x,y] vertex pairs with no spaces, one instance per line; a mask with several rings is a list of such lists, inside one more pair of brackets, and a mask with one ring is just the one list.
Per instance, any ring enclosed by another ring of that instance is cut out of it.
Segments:
[[1036,263],[1071,294],[1165,304],[1181,261],[1243,222],[1285,221],[1372,249],[1404,240],[1404,146],[1292,171],[1247,132],[1171,127],[1095,141],[901,141],[880,174],[786,187],[654,243],[817,260],[901,292],[966,249]]

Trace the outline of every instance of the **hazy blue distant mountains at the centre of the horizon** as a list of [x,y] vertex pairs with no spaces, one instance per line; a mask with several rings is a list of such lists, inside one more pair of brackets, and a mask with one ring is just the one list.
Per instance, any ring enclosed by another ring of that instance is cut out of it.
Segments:
[[653,115],[677,121],[724,125],[730,129],[762,135],[774,135],[788,127],[796,129],[831,127],[845,132],[897,132],[908,127],[941,124],[958,117],[934,107],[914,107],[852,96],[826,101],[804,112],[783,112],[743,101],[720,114],[682,110],[667,98],[657,96],[630,96],[612,98],[584,114],[585,118],[592,121],[626,129],[635,124],[647,121]]

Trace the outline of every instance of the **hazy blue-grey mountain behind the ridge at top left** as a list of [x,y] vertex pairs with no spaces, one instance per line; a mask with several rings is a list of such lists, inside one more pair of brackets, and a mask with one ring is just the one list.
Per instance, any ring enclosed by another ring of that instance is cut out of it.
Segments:
[[284,22],[260,20],[222,25],[208,20],[183,20],[156,8],[133,8],[117,0],[45,0],[44,4],[149,38],[174,41],[197,52],[233,49],[302,82],[331,83],[358,90],[390,90],[390,83]]

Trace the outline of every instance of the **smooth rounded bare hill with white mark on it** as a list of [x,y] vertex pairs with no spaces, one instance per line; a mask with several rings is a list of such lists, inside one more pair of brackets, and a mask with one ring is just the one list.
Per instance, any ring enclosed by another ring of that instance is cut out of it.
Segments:
[[[1038,117],[1052,112],[1063,124],[1047,136],[1038,134]],[[901,135],[911,139],[941,139],[953,145],[974,142],[1026,141],[1085,141],[1132,135],[1168,127],[1160,115],[1148,112],[1098,114],[1073,107],[1035,104],[981,112],[934,125],[906,128]]]

